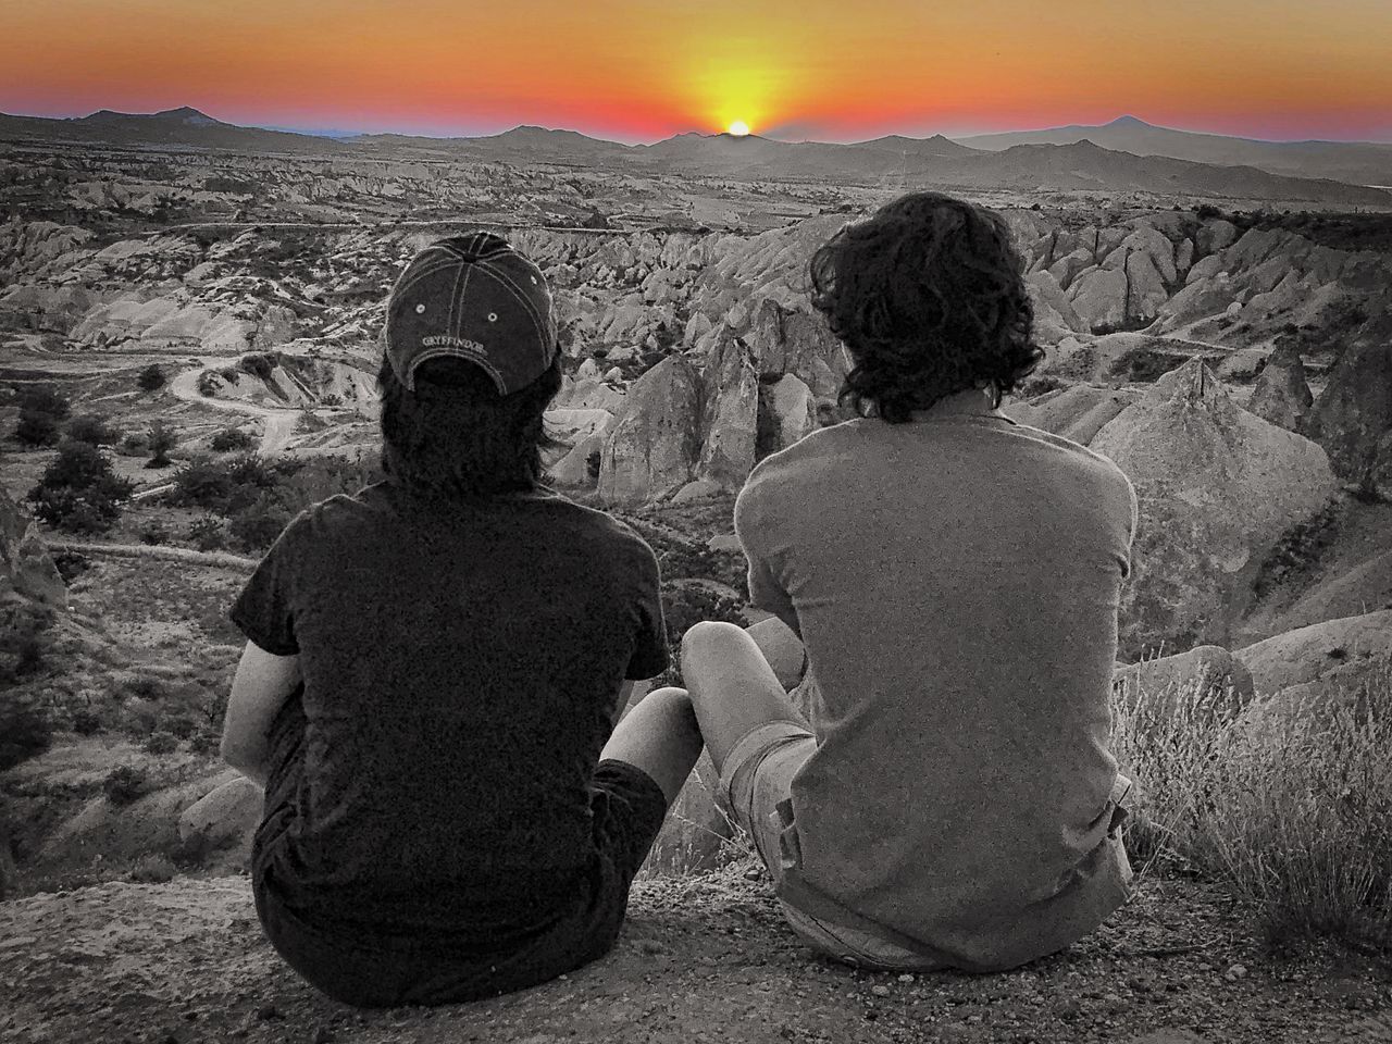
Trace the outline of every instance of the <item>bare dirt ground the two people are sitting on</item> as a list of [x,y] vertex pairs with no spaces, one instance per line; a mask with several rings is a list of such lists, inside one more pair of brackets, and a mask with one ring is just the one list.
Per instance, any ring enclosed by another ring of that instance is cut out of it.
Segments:
[[749,863],[638,881],[606,959],[469,1005],[358,1012],[263,940],[245,877],[109,883],[0,905],[3,1041],[1392,1041],[1392,969],[1274,955],[1217,889],[1147,878],[1069,951],[997,976],[818,958]]

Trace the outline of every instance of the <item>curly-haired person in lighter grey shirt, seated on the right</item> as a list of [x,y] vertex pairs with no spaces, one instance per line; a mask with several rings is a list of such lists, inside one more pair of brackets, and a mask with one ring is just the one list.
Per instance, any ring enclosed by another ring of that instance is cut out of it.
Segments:
[[812,288],[851,419],[741,491],[771,617],[686,633],[692,706],[807,942],[871,969],[1013,967],[1128,895],[1108,735],[1136,494],[999,409],[1041,358],[999,216],[903,196],[823,245]]

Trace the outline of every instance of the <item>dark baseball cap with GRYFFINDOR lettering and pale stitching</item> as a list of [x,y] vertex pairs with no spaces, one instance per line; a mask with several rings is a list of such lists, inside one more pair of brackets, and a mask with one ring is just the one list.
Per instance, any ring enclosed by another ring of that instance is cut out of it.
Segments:
[[511,395],[555,361],[551,291],[541,270],[493,232],[437,239],[391,288],[383,341],[408,388],[420,363],[465,359]]

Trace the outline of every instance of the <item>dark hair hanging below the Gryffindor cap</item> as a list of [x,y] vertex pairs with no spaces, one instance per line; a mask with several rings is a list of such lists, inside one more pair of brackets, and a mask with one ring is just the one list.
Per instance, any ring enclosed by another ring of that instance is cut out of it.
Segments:
[[553,445],[544,412],[561,390],[561,355],[521,391],[498,393],[464,359],[429,359],[415,391],[383,359],[381,466],[406,489],[448,500],[525,491],[541,482],[541,450]]

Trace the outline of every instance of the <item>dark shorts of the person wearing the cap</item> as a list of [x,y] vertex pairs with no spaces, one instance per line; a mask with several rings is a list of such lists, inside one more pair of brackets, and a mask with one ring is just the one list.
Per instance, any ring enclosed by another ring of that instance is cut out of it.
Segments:
[[310,986],[359,1008],[454,1004],[537,986],[612,948],[633,876],[667,817],[661,788],[642,770],[615,760],[600,761],[590,782],[596,855],[579,885],[567,883],[575,902],[522,941],[454,949],[412,935],[369,938],[361,930],[319,923],[287,903],[284,895],[294,891],[294,883],[283,878],[294,876],[294,859],[280,844],[285,831],[274,824],[287,814],[284,803],[292,799],[303,757],[303,717],[294,721],[298,700],[292,703],[271,731],[274,768],[252,853],[252,891],[266,937]]

